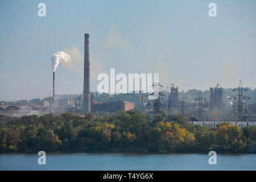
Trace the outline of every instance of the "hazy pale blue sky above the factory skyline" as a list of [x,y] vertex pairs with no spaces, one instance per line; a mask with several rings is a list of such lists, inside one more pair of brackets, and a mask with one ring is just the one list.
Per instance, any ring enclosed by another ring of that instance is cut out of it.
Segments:
[[[46,4],[46,17],[38,4]],[[217,17],[209,17],[209,3]],[[179,90],[256,85],[256,1],[0,0],[0,100],[44,98],[83,90],[84,34],[90,34],[91,91],[97,75],[159,73]]]

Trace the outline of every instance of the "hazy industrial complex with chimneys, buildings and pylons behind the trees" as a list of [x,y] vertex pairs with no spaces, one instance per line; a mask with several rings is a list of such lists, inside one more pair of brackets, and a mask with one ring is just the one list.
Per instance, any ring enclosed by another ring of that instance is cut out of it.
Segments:
[[[59,52],[61,53],[61,52]],[[53,58],[52,58],[53,60]],[[58,64],[58,63],[57,63]],[[204,98],[200,92],[193,101],[185,101],[182,94],[179,93],[179,88],[171,84],[170,91],[167,86],[167,90],[163,93],[160,88],[154,89],[154,92],[158,92],[159,97],[156,100],[147,100],[146,96],[149,93],[129,93],[131,96],[138,98],[137,100],[125,100],[122,97],[123,94],[118,94],[121,97],[114,99],[114,96],[109,95],[108,99],[102,99],[102,93],[91,92],[90,90],[90,51],[89,51],[89,34],[84,34],[84,90],[82,94],[77,97],[61,97],[55,94],[55,69],[57,65],[53,65],[53,96],[44,98],[43,100],[33,99],[29,101],[29,104],[22,105],[10,105],[1,102],[0,114],[6,115],[28,115],[28,114],[46,114],[54,113],[60,114],[64,112],[71,112],[76,114],[86,113],[115,113],[118,110],[138,110],[148,115],[154,114],[167,114],[167,120],[170,120],[174,114],[183,115],[188,121],[209,121],[208,117],[205,117],[205,113],[210,111],[221,111],[222,113],[234,114],[237,116],[238,121],[256,121],[256,102],[254,104],[246,105],[247,97],[244,93],[245,88],[240,86],[233,91],[238,91],[237,95],[230,97],[230,101],[224,101],[222,93],[223,88],[220,84],[209,88],[208,100]],[[159,86],[160,84],[158,84]],[[155,86],[156,85],[152,85]],[[161,85],[162,86],[162,85]],[[181,98],[180,98],[181,97]],[[120,99],[121,98],[121,99]],[[163,99],[165,98],[165,99]],[[233,101],[231,102],[231,100]],[[230,111],[230,107],[234,107],[233,111]]]

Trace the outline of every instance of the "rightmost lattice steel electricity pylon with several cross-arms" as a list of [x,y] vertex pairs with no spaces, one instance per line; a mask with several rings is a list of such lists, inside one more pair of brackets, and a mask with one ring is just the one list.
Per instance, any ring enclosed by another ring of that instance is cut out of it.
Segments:
[[250,97],[245,96],[243,92],[246,92],[246,88],[242,87],[242,81],[240,80],[238,88],[234,88],[233,92],[238,91],[238,94],[236,96],[230,97],[230,100],[236,100],[237,102],[233,103],[233,107],[237,107],[237,109],[233,110],[230,114],[237,114],[238,121],[242,121],[243,115],[247,114],[250,115],[249,111],[246,109],[243,109],[244,107],[247,107],[245,103],[245,99],[250,99]]

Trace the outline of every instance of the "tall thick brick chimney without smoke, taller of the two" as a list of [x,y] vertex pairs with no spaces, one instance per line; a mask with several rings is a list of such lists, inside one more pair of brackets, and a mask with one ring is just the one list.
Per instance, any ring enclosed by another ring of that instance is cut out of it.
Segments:
[[89,34],[84,34],[84,111],[90,113]]

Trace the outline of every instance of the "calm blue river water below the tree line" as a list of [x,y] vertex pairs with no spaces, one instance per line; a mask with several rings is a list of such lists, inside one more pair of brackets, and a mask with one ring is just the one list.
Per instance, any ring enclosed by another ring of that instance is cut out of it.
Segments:
[[254,170],[256,154],[217,155],[209,165],[208,154],[47,154],[46,165],[37,154],[0,154],[0,170]]

